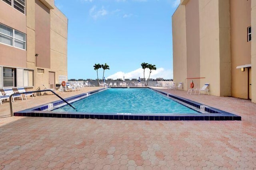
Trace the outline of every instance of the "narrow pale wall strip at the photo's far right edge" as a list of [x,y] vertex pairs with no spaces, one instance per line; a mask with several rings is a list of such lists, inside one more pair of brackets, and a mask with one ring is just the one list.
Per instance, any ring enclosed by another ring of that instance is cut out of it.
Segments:
[[[251,25],[252,29],[256,28],[256,1],[251,0]],[[256,103],[256,33],[252,31],[252,42],[251,42],[251,63],[252,63],[252,102]]]

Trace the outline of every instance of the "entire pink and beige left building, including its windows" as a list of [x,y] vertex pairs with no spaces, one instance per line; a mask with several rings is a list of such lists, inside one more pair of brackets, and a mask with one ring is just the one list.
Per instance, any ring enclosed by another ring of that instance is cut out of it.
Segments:
[[54,0],[0,0],[0,90],[55,88],[67,76],[67,34]]

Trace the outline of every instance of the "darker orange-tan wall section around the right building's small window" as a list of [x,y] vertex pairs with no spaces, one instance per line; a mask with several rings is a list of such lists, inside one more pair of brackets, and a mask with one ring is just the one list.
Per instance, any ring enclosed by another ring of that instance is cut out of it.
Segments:
[[236,66],[251,63],[251,41],[247,42],[247,27],[251,25],[251,0],[230,1],[232,96],[248,98],[248,69]]

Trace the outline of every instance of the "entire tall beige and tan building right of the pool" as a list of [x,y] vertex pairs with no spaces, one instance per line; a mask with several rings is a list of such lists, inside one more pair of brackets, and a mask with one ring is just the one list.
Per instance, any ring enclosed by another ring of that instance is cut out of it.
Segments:
[[256,0],[181,0],[172,16],[174,82],[256,102]]

